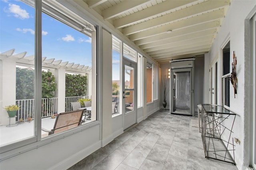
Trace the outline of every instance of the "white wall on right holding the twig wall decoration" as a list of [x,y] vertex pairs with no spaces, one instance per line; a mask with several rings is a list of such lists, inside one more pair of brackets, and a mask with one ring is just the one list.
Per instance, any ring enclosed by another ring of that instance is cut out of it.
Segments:
[[[244,144],[244,98],[247,97],[244,96],[244,20],[255,5],[256,1],[253,0],[231,1],[230,8],[225,16],[224,22],[222,23],[209,52],[209,63],[212,63],[216,56],[218,56],[218,61],[221,61],[221,47],[224,45],[226,40],[230,38],[230,72],[232,71],[231,63],[233,61],[233,51],[235,51],[235,55],[237,57],[236,70],[238,89],[236,98],[234,98],[234,88],[230,83],[230,110],[237,114],[232,137],[239,138],[241,141],[240,144],[235,144],[235,162],[238,169],[243,169],[243,167],[246,166],[244,165],[244,149],[248,148],[248,146],[246,146],[247,144]],[[221,69],[222,65],[219,63],[218,69]],[[205,70],[207,70],[207,66],[208,69],[210,69],[207,62],[205,63],[205,66]],[[208,75],[205,74],[205,78],[207,77]],[[221,82],[221,72],[218,75],[218,81]],[[209,83],[205,79],[204,101],[207,100],[206,87],[208,84]],[[218,93],[218,96],[220,95],[222,95],[221,91]],[[220,103],[221,102],[218,102],[218,104]]]

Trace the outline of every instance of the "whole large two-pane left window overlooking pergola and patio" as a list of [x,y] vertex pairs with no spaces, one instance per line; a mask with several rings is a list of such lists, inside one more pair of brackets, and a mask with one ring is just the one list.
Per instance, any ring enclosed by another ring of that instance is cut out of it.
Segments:
[[[31,7],[33,3],[0,1],[0,6],[5,9],[1,10],[0,27],[1,41],[4,42],[0,43],[1,152],[36,142],[40,140],[37,135],[48,136],[36,122],[51,130],[57,114],[73,109],[70,102],[81,102],[80,107],[84,107],[83,101],[91,101],[91,107],[86,106],[87,112],[79,125],[97,120],[96,28],[86,22],[85,17],[71,14],[72,10],[65,4],[42,3],[45,13]],[[35,12],[42,14],[42,20],[35,17]],[[42,32],[36,31],[41,29]],[[42,57],[42,63],[38,63],[34,56]],[[42,89],[39,89],[41,83]],[[42,98],[39,98],[41,91]],[[19,107],[14,117],[2,109],[8,105]]]

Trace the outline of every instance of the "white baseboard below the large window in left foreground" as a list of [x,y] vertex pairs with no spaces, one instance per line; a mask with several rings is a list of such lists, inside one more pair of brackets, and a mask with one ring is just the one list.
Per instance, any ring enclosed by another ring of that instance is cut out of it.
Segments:
[[74,164],[76,164],[77,162],[79,162],[80,160],[83,160],[84,158],[86,158],[99,148],[101,148],[100,140],[95,144],[92,144],[90,146],[87,146],[83,150],[80,150],[80,152],[77,152],[76,154],[73,154],[70,157],[62,160],[61,162],[56,162],[56,164],[52,166],[52,168],[50,168],[49,170],[66,170],[73,166]]

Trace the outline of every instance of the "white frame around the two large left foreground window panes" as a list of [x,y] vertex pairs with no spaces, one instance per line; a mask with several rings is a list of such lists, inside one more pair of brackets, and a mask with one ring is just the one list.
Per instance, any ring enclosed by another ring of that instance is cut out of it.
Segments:
[[[6,144],[2,147],[0,147],[0,154],[1,158],[0,161],[6,160],[12,156],[16,156],[18,154],[22,154],[24,152],[28,152],[29,150],[39,148],[41,146],[44,146],[48,143],[54,142],[56,140],[60,140],[61,138],[65,138],[66,136],[72,135],[74,133],[80,132],[82,130],[85,130],[90,127],[94,127],[98,124],[100,124],[99,120],[101,119],[100,115],[98,114],[98,106],[96,108],[96,121],[93,121],[91,123],[79,126],[77,128],[64,131],[62,133],[58,133],[56,135],[49,136],[47,138],[43,138],[41,140],[41,101],[42,101],[42,1],[35,0],[34,1],[28,1],[30,4],[29,5],[34,5],[34,10],[35,10],[35,127],[34,127],[34,136],[28,139],[24,139],[18,142],[14,142],[11,144]],[[61,2],[65,3],[65,2]],[[68,4],[62,4],[64,7],[69,8],[70,11],[72,12],[77,12],[77,9],[74,6],[70,6]],[[81,14],[81,13],[80,13]],[[74,15],[74,14],[73,14]],[[82,14],[81,14],[82,15]],[[84,14],[83,14],[84,15]],[[81,17],[81,18],[86,18],[86,16],[76,16],[76,17]],[[67,23],[64,23],[67,24]],[[93,23],[96,25],[96,23]],[[98,26],[99,27],[99,26]],[[74,27],[73,27],[74,28]],[[97,28],[97,41],[100,42],[99,40],[102,38],[100,34],[100,29]],[[86,33],[85,33],[86,34]],[[86,34],[87,35],[87,34]],[[99,44],[97,44],[97,54],[100,52],[100,47]],[[97,55],[98,57],[98,55]],[[100,61],[97,61],[95,64],[95,67],[97,68],[96,72],[99,72],[100,67],[98,67]],[[97,66],[96,66],[97,65]],[[97,73],[95,73],[96,76]],[[97,82],[99,81],[98,76],[96,76]],[[97,83],[97,91],[99,91],[99,84]],[[98,93],[96,95],[96,100],[98,101]]]

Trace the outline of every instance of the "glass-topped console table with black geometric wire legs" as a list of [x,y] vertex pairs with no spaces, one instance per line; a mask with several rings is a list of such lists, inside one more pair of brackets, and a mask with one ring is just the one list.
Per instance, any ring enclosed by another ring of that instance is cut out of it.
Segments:
[[235,163],[232,128],[236,114],[219,105],[202,104],[202,142],[205,158]]

